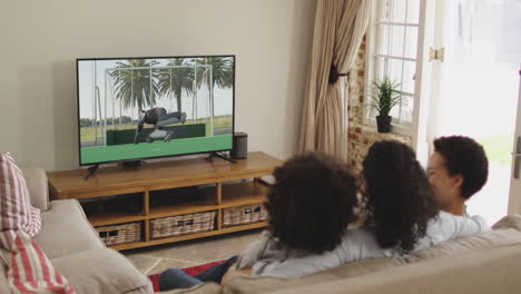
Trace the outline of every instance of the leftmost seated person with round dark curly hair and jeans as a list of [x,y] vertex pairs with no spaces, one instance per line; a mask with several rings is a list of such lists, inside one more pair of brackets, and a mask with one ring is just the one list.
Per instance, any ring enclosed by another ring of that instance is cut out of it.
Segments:
[[[318,153],[298,155],[273,173],[275,183],[265,203],[268,227],[260,239],[234,256],[195,277],[169,268],[159,276],[161,291],[186,288],[204,282],[220,283],[230,271],[265,275],[271,264],[286,258],[302,258],[334,249],[356,220],[357,185],[347,167],[331,156]],[[327,263],[328,261],[324,261]],[[314,272],[312,265],[279,272],[295,276]]]

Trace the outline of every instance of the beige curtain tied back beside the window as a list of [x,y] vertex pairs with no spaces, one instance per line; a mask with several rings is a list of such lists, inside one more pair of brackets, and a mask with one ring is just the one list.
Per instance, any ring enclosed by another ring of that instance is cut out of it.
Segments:
[[372,0],[318,0],[302,118],[301,151],[347,159],[347,74],[362,43]]

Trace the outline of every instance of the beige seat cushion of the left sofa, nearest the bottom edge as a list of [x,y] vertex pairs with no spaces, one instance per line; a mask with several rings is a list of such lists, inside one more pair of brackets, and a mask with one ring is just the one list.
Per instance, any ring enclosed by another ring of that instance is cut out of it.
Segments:
[[114,249],[90,249],[51,259],[81,294],[154,293],[150,280]]

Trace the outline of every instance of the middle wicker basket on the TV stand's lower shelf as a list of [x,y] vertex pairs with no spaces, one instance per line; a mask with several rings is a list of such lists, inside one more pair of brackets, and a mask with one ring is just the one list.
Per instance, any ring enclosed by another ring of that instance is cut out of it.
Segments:
[[150,220],[151,238],[164,238],[214,229],[216,212],[187,214]]

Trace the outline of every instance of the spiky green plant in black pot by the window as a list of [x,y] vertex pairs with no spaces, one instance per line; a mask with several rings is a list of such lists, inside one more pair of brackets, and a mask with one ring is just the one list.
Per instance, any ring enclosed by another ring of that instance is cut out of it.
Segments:
[[379,133],[391,131],[392,117],[389,115],[394,106],[400,104],[402,96],[400,95],[400,84],[393,82],[389,77],[383,80],[373,81],[374,92],[368,105],[370,111],[377,111],[376,125]]

